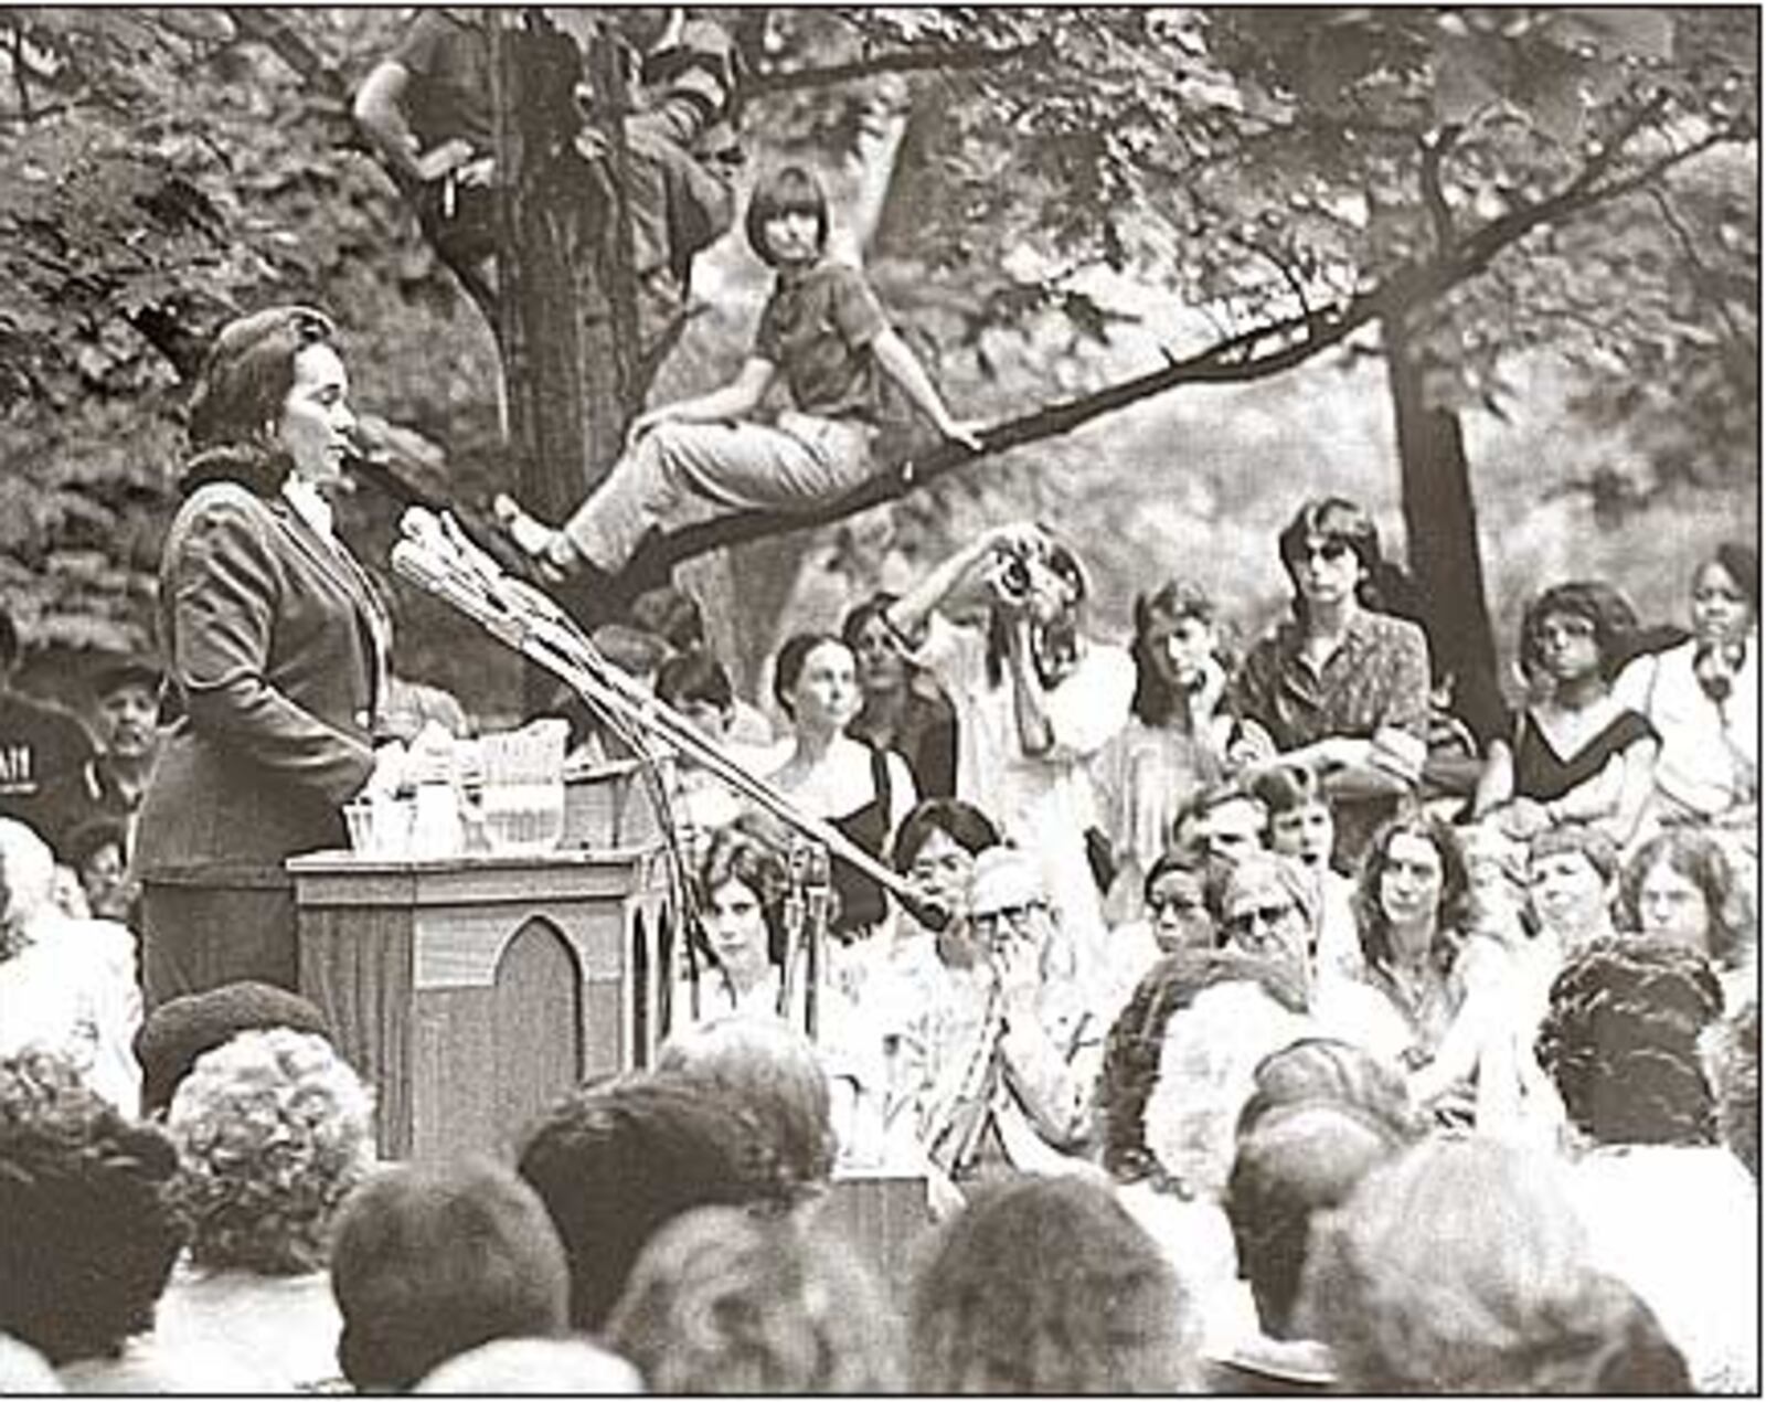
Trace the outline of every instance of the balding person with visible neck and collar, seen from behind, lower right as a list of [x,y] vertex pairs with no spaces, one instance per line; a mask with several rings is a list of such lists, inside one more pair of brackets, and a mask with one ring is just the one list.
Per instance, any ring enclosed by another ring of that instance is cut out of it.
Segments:
[[1404,1141],[1342,1102],[1273,1109],[1238,1141],[1226,1185],[1238,1273],[1256,1303],[1256,1333],[1211,1349],[1210,1391],[1324,1391],[1335,1381],[1330,1349],[1294,1328],[1312,1218],[1347,1201]]

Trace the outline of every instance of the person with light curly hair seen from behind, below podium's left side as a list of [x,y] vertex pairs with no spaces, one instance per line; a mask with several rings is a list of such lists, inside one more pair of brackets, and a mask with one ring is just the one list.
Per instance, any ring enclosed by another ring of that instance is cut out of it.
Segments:
[[155,1340],[230,1351],[274,1390],[337,1377],[332,1227],[374,1165],[371,1091],[332,1045],[290,1028],[205,1052],[166,1111],[189,1261]]

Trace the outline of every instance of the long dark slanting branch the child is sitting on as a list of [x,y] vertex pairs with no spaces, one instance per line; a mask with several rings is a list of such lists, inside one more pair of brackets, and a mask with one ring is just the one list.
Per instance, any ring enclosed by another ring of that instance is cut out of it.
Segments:
[[1701,150],[1736,139],[1740,134],[1738,129],[1718,129],[1702,141],[1671,152],[1623,180],[1598,184],[1614,161],[1618,161],[1630,138],[1662,109],[1662,102],[1664,99],[1658,97],[1639,109],[1621,129],[1621,134],[1556,194],[1521,205],[1491,219],[1476,231],[1457,238],[1445,251],[1406,263],[1363,293],[1300,316],[1254,327],[1238,335],[1229,335],[1187,358],[1169,360],[1169,364],[1148,374],[1107,385],[1077,399],[1045,404],[1019,418],[996,424],[982,434],[982,450],[978,454],[959,443],[940,443],[917,459],[909,457],[885,468],[855,493],[816,510],[736,512],[713,521],[682,526],[660,539],[653,539],[639,551],[639,556],[632,562],[632,569],[645,572],[664,570],[712,549],[841,521],[857,512],[892,501],[917,486],[966,466],[977,457],[1068,434],[1093,418],[1114,413],[1180,385],[1249,383],[1289,371],[1321,351],[1342,344],[1370,321],[1402,314],[1480,274],[1499,253],[1521,242],[1535,230],[1565,222],[1591,205],[1605,203],[1648,185]]

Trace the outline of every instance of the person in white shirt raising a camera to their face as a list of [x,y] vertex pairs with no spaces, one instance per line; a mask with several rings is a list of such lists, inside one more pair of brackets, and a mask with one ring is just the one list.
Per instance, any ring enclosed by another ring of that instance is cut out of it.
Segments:
[[[1128,720],[1134,662],[1079,632],[1079,558],[1035,524],[982,531],[883,618],[957,712],[957,798],[994,814],[1040,871],[1061,927],[1093,975],[1104,913],[1086,860],[1097,825],[1088,761]],[[985,600],[985,618],[947,616]]]

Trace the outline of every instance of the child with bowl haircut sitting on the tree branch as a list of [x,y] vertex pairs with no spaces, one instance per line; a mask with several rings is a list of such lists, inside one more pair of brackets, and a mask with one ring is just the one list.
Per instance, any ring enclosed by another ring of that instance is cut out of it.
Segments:
[[[639,415],[627,448],[560,530],[500,496],[498,519],[565,586],[572,611],[616,613],[650,579],[629,570],[645,537],[710,516],[809,512],[872,473],[879,380],[888,376],[938,431],[971,452],[975,426],[952,418],[908,344],[890,328],[864,274],[826,256],[828,201],[802,166],[763,178],[747,235],[779,281],[754,348],[735,378]],[[754,415],[784,378],[795,408]]]

